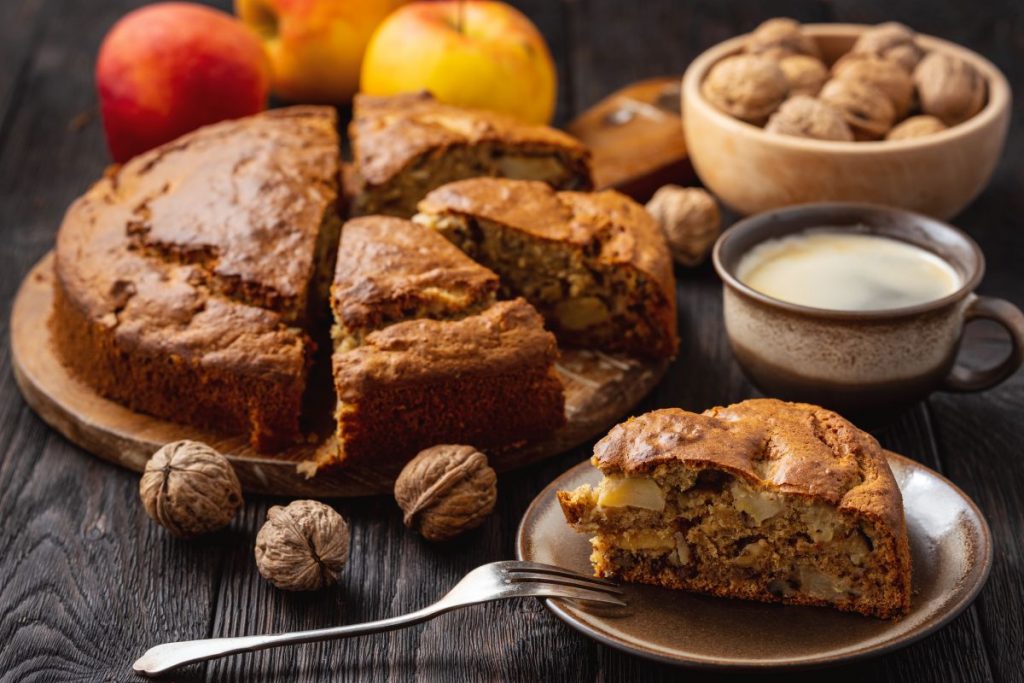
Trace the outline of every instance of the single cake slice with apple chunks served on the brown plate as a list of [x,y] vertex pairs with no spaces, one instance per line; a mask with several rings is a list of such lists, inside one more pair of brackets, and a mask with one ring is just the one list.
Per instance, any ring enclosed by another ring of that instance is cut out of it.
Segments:
[[903,504],[878,442],[806,403],[647,413],[558,492],[597,575],[879,617],[910,606]]

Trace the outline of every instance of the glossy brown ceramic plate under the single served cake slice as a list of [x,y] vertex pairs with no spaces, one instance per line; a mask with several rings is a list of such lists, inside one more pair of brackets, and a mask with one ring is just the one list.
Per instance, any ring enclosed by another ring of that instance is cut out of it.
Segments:
[[[971,604],[988,578],[992,545],[988,523],[964,492],[921,463],[888,456],[903,493],[913,558],[910,613],[898,622],[637,585],[624,587],[630,606],[622,612],[588,611],[564,600],[546,603],[563,622],[605,645],[707,669],[807,668],[903,647]],[[565,524],[555,492],[600,478],[584,462],[541,492],[519,524],[519,559],[589,572],[590,544]]]

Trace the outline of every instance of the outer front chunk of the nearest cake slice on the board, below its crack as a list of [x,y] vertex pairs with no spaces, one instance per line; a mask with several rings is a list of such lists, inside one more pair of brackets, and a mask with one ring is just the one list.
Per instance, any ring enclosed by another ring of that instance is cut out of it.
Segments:
[[541,439],[565,422],[557,357],[555,338],[522,299],[372,332],[333,358],[338,458],[400,464],[437,443],[486,450]]

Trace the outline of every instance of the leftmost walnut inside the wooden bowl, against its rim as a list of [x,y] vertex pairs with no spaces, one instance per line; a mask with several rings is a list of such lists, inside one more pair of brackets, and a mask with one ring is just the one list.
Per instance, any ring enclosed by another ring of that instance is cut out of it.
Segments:
[[785,99],[788,87],[774,60],[735,54],[712,67],[700,91],[729,116],[761,125]]

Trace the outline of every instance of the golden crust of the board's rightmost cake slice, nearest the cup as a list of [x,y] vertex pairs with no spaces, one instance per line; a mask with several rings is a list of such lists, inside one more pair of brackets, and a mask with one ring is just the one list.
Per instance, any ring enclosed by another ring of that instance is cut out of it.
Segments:
[[482,218],[541,240],[596,248],[599,264],[635,268],[656,285],[663,298],[655,310],[663,333],[655,354],[675,353],[676,281],[669,247],[650,214],[625,195],[559,193],[530,180],[472,178],[431,191],[419,210]]

